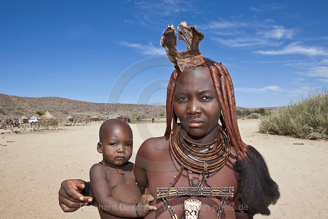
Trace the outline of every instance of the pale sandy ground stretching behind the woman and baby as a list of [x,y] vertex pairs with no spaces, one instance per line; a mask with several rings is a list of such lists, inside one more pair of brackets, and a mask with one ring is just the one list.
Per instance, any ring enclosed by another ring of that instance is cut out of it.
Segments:
[[[270,207],[270,216],[255,218],[328,218],[328,161],[323,158],[328,154],[328,142],[261,134],[258,122],[240,120],[240,132],[244,142],[266,159],[281,198]],[[96,151],[100,125],[92,122],[63,130],[0,135],[1,218],[99,218],[90,207],[64,213],[58,205],[58,189],[65,179],[89,180],[90,167],[102,158]],[[161,136],[165,122],[131,127],[134,161],[143,139]]]

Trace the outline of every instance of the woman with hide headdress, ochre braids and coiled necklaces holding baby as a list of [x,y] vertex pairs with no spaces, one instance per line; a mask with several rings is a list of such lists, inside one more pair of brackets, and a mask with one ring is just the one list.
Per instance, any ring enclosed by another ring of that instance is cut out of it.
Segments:
[[[195,27],[182,22],[177,29],[187,51],[176,51],[173,26],[161,40],[175,67],[167,89],[165,135],[146,140],[135,160],[137,185],[156,197],[157,210],[145,219],[269,215],[268,206],[277,202],[279,189],[263,157],[241,140],[228,70],[202,57],[198,44],[204,35]],[[82,196],[76,191],[84,188],[83,182],[62,183],[60,204],[76,203],[67,211],[83,203],[73,198]]]

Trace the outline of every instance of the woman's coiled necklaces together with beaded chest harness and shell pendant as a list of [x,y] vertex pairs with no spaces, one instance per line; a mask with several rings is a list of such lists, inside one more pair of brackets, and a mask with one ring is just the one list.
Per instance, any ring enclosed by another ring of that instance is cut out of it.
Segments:
[[[221,140],[220,142],[218,140]],[[173,219],[177,219],[174,208],[168,200],[169,196],[190,196],[189,199],[184,202],[184,211],[186,219],[197,219],[201,202],[198,200],[198,196],[215,196],[221,200],[216,219],[220,219],[226,204],[233,206],[234,203],[228,200],[228,197],[233,197],[234,187],[211,187],[207,183],[209,175],[215,171],[221,169],[226,164],[230,154],[230,141],[227,133],[223,128],[218,125],[217,135],[213,142],[196,144],[191,142],[182,135],[179,124],[173,127],[170,134],[170,149],[175,160],[180,164],[180,170],[170,187],[162,187],[156,189],[156,204],[159,200],[162,200],[167,207],[170,215]],[[197,151],[191,148],[205,147],[206,149]],[[188,171],[189,187],[174,187],[176,182],[181,176],[183,169]],[[193,173],[199,174],[198,182],[195,184],[193,179]],[[208,187],[201,187],[201,183],[204,181]]]

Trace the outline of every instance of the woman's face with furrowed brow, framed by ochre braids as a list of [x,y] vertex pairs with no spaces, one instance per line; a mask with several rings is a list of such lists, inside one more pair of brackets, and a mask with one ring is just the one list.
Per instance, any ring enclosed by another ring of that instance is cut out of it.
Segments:
[[174,112],[184,132],[193,139],[216,135],[221,108],[207,67],[192,67],[180,73],[175,85]]

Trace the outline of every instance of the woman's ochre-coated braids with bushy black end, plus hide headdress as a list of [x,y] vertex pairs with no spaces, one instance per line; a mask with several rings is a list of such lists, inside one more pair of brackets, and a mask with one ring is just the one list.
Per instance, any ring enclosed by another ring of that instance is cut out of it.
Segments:
[[173,25],[164,31],[161,40],[161,45],[176,69],[171,75],[167,88],[165,135],[170,134],[172,121],[173,127],[177,122],[173,106],[175,83],[179,73],[190,67],[207,66],[210,69],[222,111],[221,124],[226,129],[237,154],[234,168],[239,172],[239,197],[249,207],[250,214],[269,215],[268,206],[276,204],[280,196],[279,189],[271,179],[263,157],[254,147],[245,144],[240,137],[234,86],[228,70],[223,65],[201,56],[198,44],[204,35],[198,32],[195,27],[189,27],[186,22],[182,22],[178,26],[178,35],[178,39],[182,39],[187,45],[185,52],[176,51],[176,36]]

